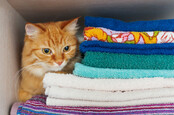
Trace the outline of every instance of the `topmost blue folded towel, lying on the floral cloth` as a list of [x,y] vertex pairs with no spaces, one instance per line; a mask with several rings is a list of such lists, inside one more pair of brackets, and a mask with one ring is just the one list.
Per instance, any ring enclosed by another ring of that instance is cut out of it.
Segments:
[[123,22],[112,18],[86,16],[85,26],[104,27],[115,31],[174,31],[174,19]]

